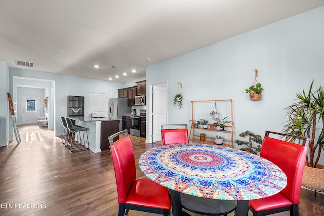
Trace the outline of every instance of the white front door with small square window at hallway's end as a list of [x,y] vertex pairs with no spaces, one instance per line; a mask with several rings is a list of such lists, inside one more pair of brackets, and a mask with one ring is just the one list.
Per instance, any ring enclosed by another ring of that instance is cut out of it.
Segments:
[[38,123],[42,105],[39,97],[22,97],[22,104],[22,124]]

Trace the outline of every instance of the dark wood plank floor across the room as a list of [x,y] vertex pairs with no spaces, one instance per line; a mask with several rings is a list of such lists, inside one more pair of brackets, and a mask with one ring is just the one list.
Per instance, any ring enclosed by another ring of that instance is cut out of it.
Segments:
[[[19,126],[19,132],[20,144],[13,141],[0,147],[0,215],[117,215],[109,150],[71,153],[52,130],[27,125]],[[147,149],[159,145],[134,136],[131,140],[136,161]],[[143,177],[139,168],[137,177]],[[324,215],[323,198],[323,194],[315,197],[302,189],[300,215]],[[156,214],[130,211],[128,215]]]

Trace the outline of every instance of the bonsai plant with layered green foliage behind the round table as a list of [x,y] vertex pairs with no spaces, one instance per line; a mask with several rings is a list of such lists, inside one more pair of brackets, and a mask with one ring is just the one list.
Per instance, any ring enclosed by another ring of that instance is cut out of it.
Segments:
[[[239,146],[246,145],[247,147],[241,148],[242,151],[247,151],[252,154],[258,154],[258,152],[261,151],[261,145],[262,145],[262,138],[260,135],[255,135],[251,131],[245,131],[242,132],[240,137],[245,138],[246,136],[249,136],[249,142],[248,141],[242,141],[242,140],[235,140],[235,143],[237,143]],[[257,146],[252,146],[252,142],[257,143]]]

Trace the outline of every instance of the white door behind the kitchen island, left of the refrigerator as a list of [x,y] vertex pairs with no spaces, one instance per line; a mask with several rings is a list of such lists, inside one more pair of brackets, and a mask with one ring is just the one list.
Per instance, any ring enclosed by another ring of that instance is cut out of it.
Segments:
[[93,117],[107,117],[107,96],[106,93],[89,93],[89,114],[95,113]]

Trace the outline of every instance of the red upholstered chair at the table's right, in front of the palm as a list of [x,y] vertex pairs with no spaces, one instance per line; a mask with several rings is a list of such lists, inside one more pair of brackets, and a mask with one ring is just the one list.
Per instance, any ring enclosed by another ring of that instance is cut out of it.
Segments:
[[[269,134],[280,135],[289,139],[300,139],[302,145],[269,137]],[[305,166],[309,138],[266,131],[260,156],[279,166],[287,176],[287,186],[280,193],[263,199],[249,201],[253,215],[268,215],[290,211],[298,215],[299,195]]]

